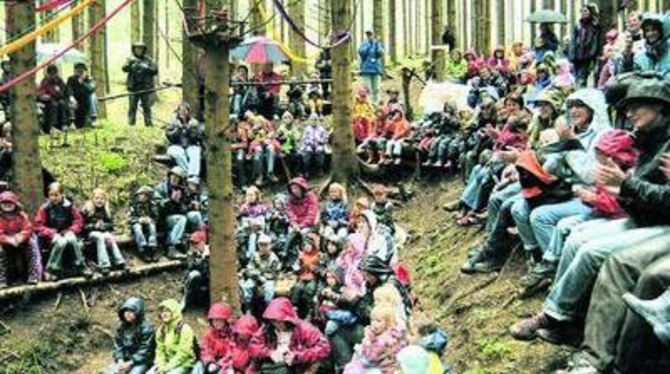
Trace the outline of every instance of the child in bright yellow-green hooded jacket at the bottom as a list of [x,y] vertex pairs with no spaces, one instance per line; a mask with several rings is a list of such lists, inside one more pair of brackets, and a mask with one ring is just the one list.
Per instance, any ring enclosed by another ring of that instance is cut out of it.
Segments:
[[163,301],[158,311],[161,324],[156,331],[156,361],[149,374],[190,373],[196,363],[193,328],[184,321],[177,300]]

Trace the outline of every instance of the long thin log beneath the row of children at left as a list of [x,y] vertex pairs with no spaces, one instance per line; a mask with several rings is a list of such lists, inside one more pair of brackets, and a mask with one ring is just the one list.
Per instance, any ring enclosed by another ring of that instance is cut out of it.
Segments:
[[97,284],[105,284],[112,281],[121,281],[126,279],[137,278],[154,273],[160,273],[166,270],[179,269],[184,266],[184,263],[177,260],[164,261],[155,264],[146,264],[142,266],[129,269],[127,271],[113,271],[107,277],[94,276],[93,278],[75,277],[60,280],[58,282],[39,283],[37,285],[24,285],[18,287],[8,288],[0,291],[0,301],[22,296],[24,294],[39,294],[48,291],[60,291],[63,289],[90,286]]

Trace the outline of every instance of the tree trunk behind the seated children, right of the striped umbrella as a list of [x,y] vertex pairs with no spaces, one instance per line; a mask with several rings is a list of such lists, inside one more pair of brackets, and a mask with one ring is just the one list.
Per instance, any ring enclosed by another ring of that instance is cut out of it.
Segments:
[[[351,3],[331,0],[333,30],[338,33],[351,24]],[[347,41],[332,49],[333,66],[333,180],[348,182],[358,177],[358,157],[351,129],[351,61]]]

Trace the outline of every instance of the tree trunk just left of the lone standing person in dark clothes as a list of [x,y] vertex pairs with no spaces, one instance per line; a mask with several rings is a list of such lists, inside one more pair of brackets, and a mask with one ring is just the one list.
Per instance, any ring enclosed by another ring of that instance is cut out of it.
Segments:
[[[97,0],[88,8],[88,27],[98,23],[105,18],[106,0]],[[106,76],[105,76],[105,33],[106,26],[102,26],[93,33],[90,38],[91,49],[88,56],[91,61],[91,77],[95,81],[95,93],[98,97],[105,96]],[[107,118],[107,104],[104,101],[98,102],[98,118]]]

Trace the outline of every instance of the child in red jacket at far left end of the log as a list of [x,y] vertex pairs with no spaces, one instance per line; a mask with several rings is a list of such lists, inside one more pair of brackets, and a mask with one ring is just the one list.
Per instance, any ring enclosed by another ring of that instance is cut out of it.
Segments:
[[42,279],[42,259],[32,224],[19,203],[19,197],[5,191],[0,193],[0,289],[9,283],[9,264],[13,254],[27,260],[28,284],[37,284]]

